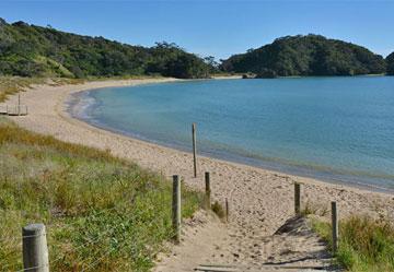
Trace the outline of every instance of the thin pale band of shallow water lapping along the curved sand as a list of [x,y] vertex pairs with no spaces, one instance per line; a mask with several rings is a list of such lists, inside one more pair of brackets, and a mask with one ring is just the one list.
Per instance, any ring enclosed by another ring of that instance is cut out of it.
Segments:
[[[225,78],[220,78],[219,80],[223,80],[223,79]],[[227,79],[237,79],[237,78],[227,78]],[[190,153],[190,149],[188,149],[187,145],[170,143],[170,142],[165,142],[164,140],[155,140],[149,137],[141,135],[132,130],[127,131],[127,130],[112,128],[109,125],[105,125],[100,120],[90,118],[89,114],[85,114],[86,110],[97,105],[97,100],[95,100],[95,98],[91,96],[91,93],[100,90],[101,88],[95,88],[95,90],[86,90],[86,91],[72,93],[68,98],[66,98],[65,103],[67,105],[66,111],[68,117],[82,121],[83,123],[86,123],[99,130],[104,130],[126,138],[142,141],[143,143],[154,144],[161,147],[167,147],[179,152]],[[91,99],[91,102],[84,103],[88,99]],[[317,180],[318,182],[331,184],[336,186],[345,186],[349,188],[361,189],[372,192],[381,192],[386,194],[394,193],[394,189],[384,187],[383,185],[380,186],[379,184],[374,184],[374,181],[384,182],[384,180],[390,181],[391,179],[379,176],[372,176],[372,175],[368,176],[367,173],[366,176],[363,176],[361,174],[357,175],[357,174],[350,174],[339,170],[335,172],[335,169],[332,169],[329,167],[326,167],[324,169],[322,168],[323,166],[322,167],[316,166],[317,168],[313,167],[313,165],[301,166],[297,164],[279,162],[276,158],[263,158],[263,157],[257,158],[257,157],[245,156],[240,153],[231,153],[220,150],[200,149],[198,153],[199,154],[197,155],[199,157],[206,157],[208,159],[209,158],[219,159],[223,163],[231,162],[234,164],[240,164],[242,166],[256,167],[259,169],[269,170],[277,174],[297,176],[300,178],[310,178]]]

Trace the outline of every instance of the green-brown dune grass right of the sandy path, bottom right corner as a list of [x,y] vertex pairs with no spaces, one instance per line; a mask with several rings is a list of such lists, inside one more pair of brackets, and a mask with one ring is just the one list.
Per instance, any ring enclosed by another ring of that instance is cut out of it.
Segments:
[[[312,221],[313,229],[332,248],[331,224]],[[394,227],[387,221],[354,216],[339,224],[336,261],[351,272],[394,271]]]

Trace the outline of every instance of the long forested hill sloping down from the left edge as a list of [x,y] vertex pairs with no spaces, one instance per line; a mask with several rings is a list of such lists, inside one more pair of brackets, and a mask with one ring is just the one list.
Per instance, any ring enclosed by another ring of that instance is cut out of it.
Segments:
[[0,19],[0,75],[206,78],[212,67],[175,44],[147,48]]

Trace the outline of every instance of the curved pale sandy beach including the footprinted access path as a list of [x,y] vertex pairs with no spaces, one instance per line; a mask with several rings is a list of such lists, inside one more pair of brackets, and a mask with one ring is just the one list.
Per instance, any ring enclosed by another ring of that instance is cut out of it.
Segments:
[[[34,86],[21,93],[22,104],[28,106],[28,116],[11,117],[28,130],[55,138],[109,150],[113,155],[131,159],[142,167],[163,175],[181,175],[193,187],[204,188],[204,173],[210,172],[212,197],[221,203],[228,198],[230,223],[209,220],[197,214],[185,227],[183,244],[175,255],[161,257],[158,271],[192,271],[201,263],[225,263],[262,271],[262,263],[292,260],[317,252],[322,245],[313,234],[288,239],[273,234],[293,216],[293,184],[302,182],[302,202],[329,216],[331,201],[337,201],[340,217],[369,214],[394,218],[394,196],[367,191],[320,180],[276,173],[242,164],[198,157],[198,177],[193,177],[190,153],[151,144],[140,140],[97,129],[71,118],[67,111],[70,95],[106,86],[159,83],[174,79],[97,81],[79,85]],[[12,105],[18,97],[7,102]],[[196,223],[197,222],[197,223]],[[198,224],[198,222],[200,224]],[[277,240],[276,240],[277,239]],[[289,249],[283,252],[282,249]],[[196,253],[196,251],[199,251]],[[318,261],[311,258],[306,263]],[[305,261],[304,261],[305,263]]]

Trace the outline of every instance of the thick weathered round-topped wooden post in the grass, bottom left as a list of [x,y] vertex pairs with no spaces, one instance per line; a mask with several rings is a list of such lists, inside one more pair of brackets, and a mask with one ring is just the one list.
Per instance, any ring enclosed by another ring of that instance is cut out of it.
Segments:
[[30,272],[49,272],[49,257],[44,224],[22,228],[23,268]]

